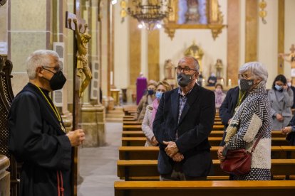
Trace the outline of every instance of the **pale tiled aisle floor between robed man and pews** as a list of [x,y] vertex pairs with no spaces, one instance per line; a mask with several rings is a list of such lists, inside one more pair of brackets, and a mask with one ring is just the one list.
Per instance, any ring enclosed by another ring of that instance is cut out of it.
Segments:
[[121,146],[122,123],[106,123],[106,146],[81,148],[78,196],[113,196],[117,177],[118,147]]

